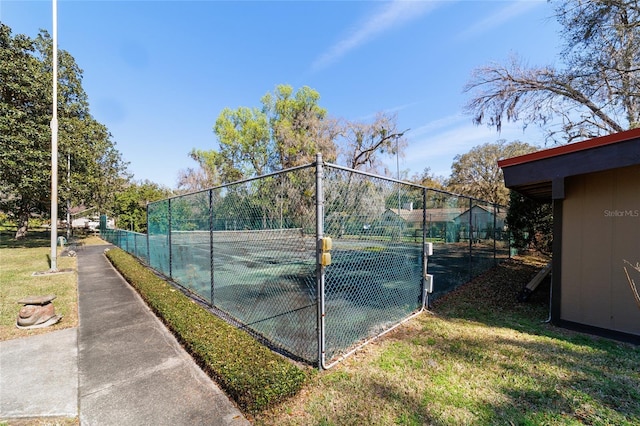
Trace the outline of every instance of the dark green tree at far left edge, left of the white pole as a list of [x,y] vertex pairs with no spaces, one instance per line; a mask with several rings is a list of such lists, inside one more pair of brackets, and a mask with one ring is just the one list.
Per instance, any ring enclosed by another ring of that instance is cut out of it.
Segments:
[[33,40],[12,37],[0,23],[0,207],[17,221],[16,238],[26,234],[32,212],[45,211],[50,193],[43,182],[50,182],[46,137],[51,114],[41,101],[48,98],[48,86],[36,53]]

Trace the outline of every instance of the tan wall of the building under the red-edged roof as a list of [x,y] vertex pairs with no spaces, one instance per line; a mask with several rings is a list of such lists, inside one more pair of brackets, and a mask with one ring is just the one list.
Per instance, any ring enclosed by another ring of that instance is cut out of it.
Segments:
[[561,319],[640,335],[640,166],[567,178],[562,224]]

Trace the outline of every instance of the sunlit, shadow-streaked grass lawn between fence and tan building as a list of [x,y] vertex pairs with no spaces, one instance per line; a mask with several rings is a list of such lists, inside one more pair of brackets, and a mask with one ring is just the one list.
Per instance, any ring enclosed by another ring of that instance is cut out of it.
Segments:
[[256,418],[289,425],[638,425],[640,348],[545,323],[508,261]]

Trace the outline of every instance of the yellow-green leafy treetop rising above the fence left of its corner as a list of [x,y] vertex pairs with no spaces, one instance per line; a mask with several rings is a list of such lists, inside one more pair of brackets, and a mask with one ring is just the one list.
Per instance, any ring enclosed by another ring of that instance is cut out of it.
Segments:
[[262,97],[261,108],[223,109],[213,127],[218,149],[192,150],[200,168],[181,172],[181,185],[203,188],[258,176],[310,163],[317,152],[335,161],[334,122],[319,99],[309,87],[294,92],[279,85]]

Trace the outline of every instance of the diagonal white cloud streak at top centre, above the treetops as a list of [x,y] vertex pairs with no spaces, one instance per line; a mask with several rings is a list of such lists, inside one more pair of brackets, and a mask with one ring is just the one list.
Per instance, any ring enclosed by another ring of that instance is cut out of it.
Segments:
[[417,19],[438,5],[439,2],[424,0],[394,0],[384,3],[384,6],[361,22],[349,35],[320,55],[311,65],[312,70],[317,71],[331,65],[381,33]]

